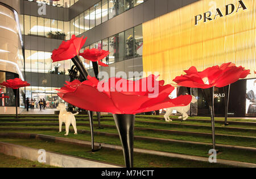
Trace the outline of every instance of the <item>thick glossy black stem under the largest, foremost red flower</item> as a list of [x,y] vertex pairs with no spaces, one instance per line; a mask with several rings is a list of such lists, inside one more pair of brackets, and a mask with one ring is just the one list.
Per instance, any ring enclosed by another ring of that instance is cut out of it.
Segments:
[[113,114],[119,138],[123,146],[126,168],[133,168],[134,114]]

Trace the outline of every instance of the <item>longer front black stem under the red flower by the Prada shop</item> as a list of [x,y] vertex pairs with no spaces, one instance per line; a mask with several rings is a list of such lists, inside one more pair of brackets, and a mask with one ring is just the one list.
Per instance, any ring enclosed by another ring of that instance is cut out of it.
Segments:
[[208,89],[202,89],[205,100],[209,106],[210,119],[212,121],[212,145],[215,149],[215,127],[214,127],[214,86]]

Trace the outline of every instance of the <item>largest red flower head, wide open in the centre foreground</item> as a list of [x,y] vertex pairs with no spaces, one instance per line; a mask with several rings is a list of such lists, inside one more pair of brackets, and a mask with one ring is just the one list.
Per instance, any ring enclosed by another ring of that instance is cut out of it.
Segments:
[[[57,91],[60,92],[58,95],[61,99],[81,109],[113,114],[137,114],[167,107],[187,106],[191,102],[191,95],[170,99],[168,95],[174,87],[163,86],[164,81],[156,81],[156,78],[151,75],[138,81],[109,78],[108,82],[99,82],[97,78],[88,76],[88,81],[84,82],[67,81],[67,85]],[[148,87],[150,83],[153,88]],[[155,96],[152,95],[154,89],[158,90]]]

